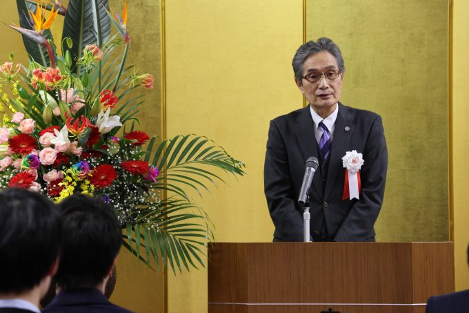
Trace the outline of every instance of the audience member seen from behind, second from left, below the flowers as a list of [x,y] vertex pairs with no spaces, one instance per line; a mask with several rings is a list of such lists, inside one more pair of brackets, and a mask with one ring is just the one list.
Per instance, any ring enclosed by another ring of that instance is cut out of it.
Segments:
[[112,208],[99,198],[75,194],[59,205],[63,248],[57,296],[43,312],[131,313],[103,295],[122,243],[121,225]]

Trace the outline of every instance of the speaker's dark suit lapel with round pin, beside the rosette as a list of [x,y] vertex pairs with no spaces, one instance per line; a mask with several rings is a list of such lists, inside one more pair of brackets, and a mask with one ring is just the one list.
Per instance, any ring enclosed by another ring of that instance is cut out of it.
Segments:
[[[347,131],[346,128],[348,129]],[[343,169],[342,157],[346,154],[347,145],[352,137],[353,131],[355,131],[355,123],[352,122],[348,108],[339,102],[339,114],[337,114],[337,120],[335,121],[324,199],[328,198],[330,191],[335,187],[333,184],[335,183],[334,178],[337,176],[337,171]]]

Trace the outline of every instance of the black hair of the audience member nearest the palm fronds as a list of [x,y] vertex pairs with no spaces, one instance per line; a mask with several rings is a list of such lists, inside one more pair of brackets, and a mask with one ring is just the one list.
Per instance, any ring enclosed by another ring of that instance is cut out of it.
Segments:
[[75,194],[59,204],[63,249],[55,276],[63,290],[93,288],[108,274],[121,247],[121,225],[110,205]]

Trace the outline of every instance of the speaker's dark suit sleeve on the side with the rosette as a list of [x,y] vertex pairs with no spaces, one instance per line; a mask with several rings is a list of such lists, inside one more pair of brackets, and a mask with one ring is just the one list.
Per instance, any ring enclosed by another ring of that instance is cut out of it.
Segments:
[[363,160],[365,163],[360,171],[360,200],[355,202],[343,220],[335,241],[362,241],[370,234],[374,235],[373,226],[383,204],[388,170],[388,149],[379,115],[372,122],[363,151]]

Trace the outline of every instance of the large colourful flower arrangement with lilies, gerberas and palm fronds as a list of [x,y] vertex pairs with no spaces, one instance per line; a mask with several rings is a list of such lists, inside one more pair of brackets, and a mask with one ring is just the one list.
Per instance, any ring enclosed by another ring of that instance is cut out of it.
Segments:
[[[0,88],[10,87],[10,95],[0,91],[0,188],[31,189],[54,202],[77,192],[98,196],[114,208],[124,247],[148,265],[161,261],[174,273],[197,267],[194,260],[203,265],[200,254],[212,232],[185,189],[221,180],[210,168],[243,175],[243,163],[205,137],[157,144],[135,129],[141,96],[131,94],[153,88],[154,79],[128,74],[126,2],[122,18],[107,0],[70,1],[68,8],[57,0],[17,5],[20,26],[10,27],[23,35],[30,61],[13,64],[10,55],[0,66]],[[49,30],[59,14],[65,16],[62,55]]]

